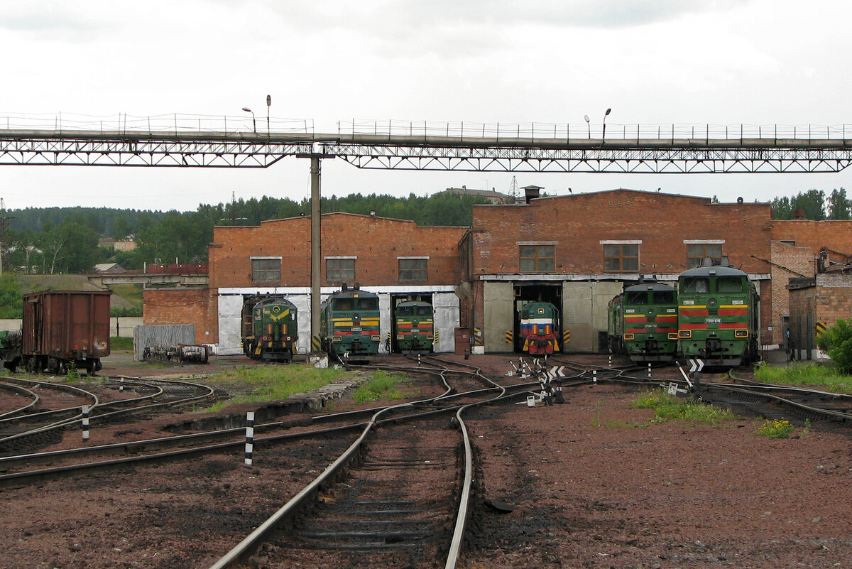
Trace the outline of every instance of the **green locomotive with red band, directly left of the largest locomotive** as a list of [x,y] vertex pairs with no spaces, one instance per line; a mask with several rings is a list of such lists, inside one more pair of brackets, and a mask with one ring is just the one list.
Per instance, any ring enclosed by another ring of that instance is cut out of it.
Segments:
[[672,361],[677,352],[677,296],[668,284],[642,282],[625,288],[607,306],[612,353],[635,362]]

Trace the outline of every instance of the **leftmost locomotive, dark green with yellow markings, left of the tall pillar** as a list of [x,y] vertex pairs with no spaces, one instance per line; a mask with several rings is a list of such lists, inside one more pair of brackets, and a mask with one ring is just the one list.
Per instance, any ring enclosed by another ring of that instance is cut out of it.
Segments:
[[298,339],[296,305],[283,296],[252,296],[243,304],[243,352],[251,359],[288,362]]

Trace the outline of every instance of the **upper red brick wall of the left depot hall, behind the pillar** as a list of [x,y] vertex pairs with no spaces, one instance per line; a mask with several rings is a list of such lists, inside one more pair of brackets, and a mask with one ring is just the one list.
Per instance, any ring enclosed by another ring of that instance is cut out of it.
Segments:
[[[428,256],[426,282],[458,284],[458,242],[467,227],[417,227],[414,221],[333,213],[322,216],[322,282],[325,257],[356,256],[361,286],[399,283],[397,257]],[[310,286],[310,219],[262,221],[259,227],[216,227],[210,244],[210,288],[250,287],[252,256],[280,256],[277,286]]]

